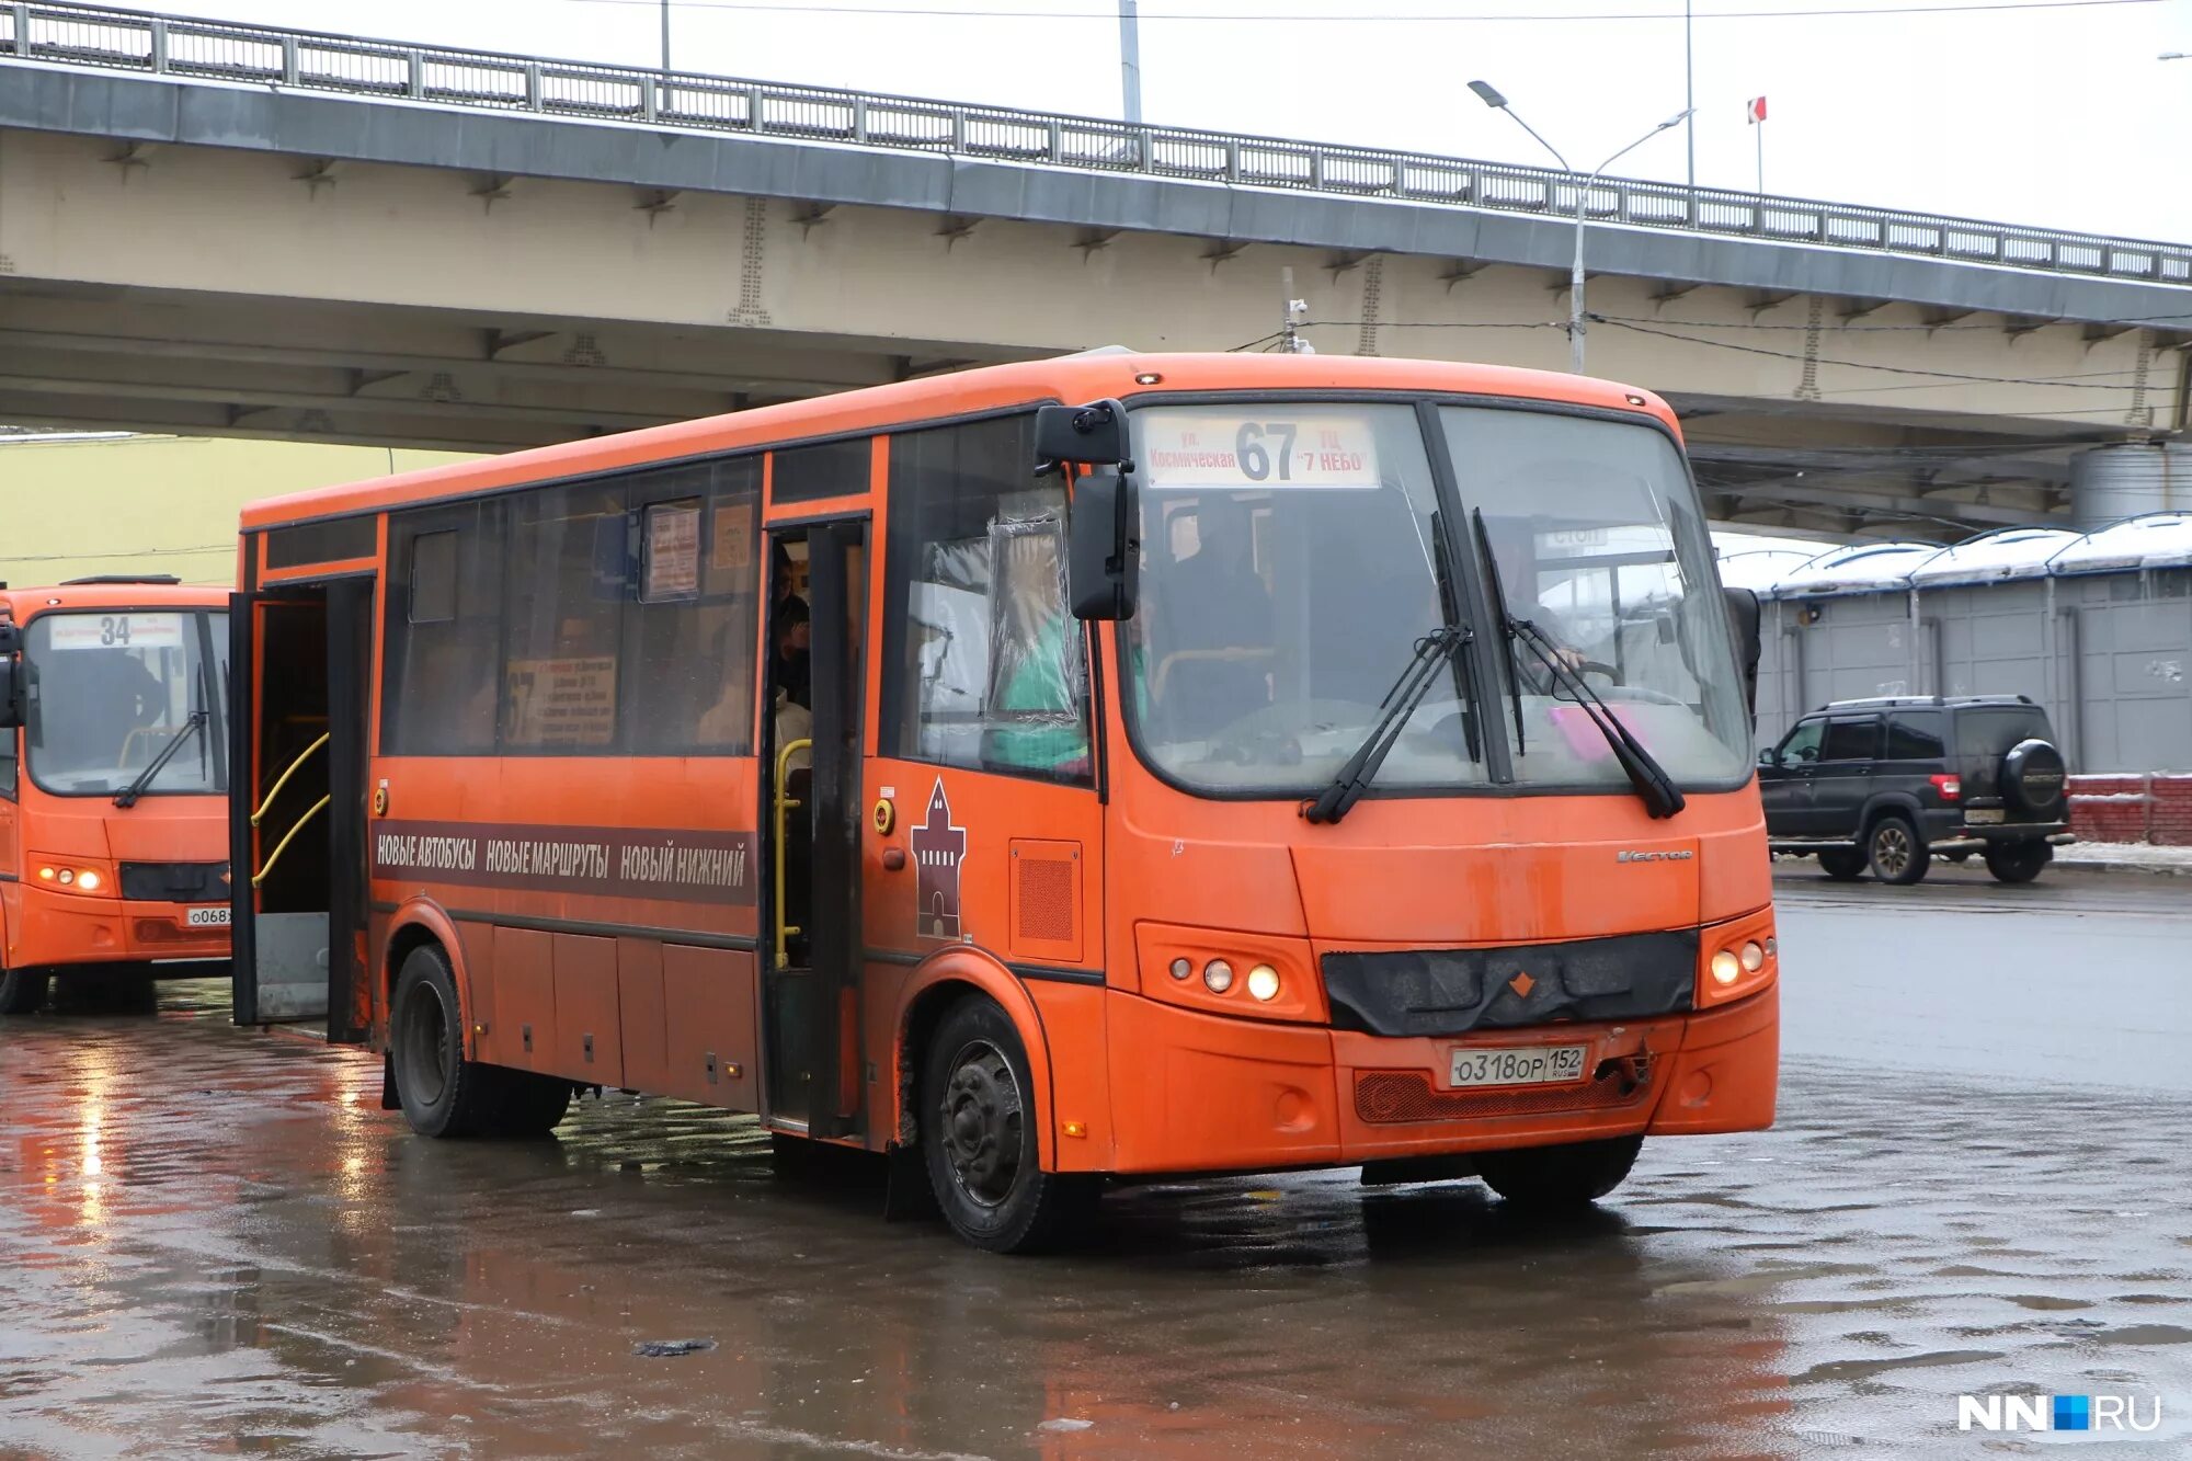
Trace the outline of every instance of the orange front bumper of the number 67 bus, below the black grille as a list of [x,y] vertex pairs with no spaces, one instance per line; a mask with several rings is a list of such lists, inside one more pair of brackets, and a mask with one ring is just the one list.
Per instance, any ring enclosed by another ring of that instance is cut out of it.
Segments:
[[[1416,1040],[1109,994],[1111,1171],[1258,1171],[1773,1123],[1780,985],[1681,1016]],[[1583,1044],[1583,1079],[1455,1088],[1471,1046]]]

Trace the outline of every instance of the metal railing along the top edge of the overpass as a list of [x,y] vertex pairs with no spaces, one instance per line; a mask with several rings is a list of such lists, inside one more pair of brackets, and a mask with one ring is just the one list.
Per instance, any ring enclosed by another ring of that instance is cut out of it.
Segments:
[[[1495,208],[1576,211],[1574,175],[1416,151],[1146,127],[1094,116],[778,86],[636,66],[0,0],[0,59],[243,81],[493,112],[914,149],[1260,189]],[[2012,228],[1890,208],[1607,178],[1585,213],[1642,228],[1826,244],[2054,274],[2192,285],[2192,246]]]

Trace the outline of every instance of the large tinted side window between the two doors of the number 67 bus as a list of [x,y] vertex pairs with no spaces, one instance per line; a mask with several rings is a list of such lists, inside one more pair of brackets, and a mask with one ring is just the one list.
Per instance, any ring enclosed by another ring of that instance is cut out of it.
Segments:
[[399,516],[392,755],[747,755],[761,458]]

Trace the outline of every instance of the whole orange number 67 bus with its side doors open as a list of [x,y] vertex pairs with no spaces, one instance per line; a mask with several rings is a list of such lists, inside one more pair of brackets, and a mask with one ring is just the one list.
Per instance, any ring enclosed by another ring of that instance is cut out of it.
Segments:
[[316,956],[419,1132],[708,1101],[1013,1250],[1771,1123],[1756,632],[1651,395],[1089,353],[259,502],[241,566],[239,1018]]

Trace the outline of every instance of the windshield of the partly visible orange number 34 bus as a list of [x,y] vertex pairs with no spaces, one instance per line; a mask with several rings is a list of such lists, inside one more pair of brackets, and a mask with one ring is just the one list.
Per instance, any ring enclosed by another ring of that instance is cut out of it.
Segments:
[[[24,634],[31,779],[61,796],[116,794],[178,741],[140,794],[226,788],[219,702],[228,614],[88,610],[42,614]],[[202,724],[191,726],[193,713]]]

